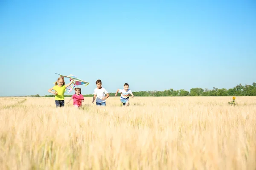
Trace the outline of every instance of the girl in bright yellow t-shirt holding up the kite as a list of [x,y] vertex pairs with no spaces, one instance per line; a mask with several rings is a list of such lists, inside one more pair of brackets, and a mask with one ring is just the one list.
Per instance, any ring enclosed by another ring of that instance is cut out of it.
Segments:
[[[64,107],[64,105],[65,105],[65,103],[64,103],[65,88],[70,86],[72,83],[73,83],[73,79],[71,80],[71,82],[69,84],[65,85],[64,78],[59,77],[57,79],[57,81],[55,82],[55,86],[53,86],[52,88],[50,88],[48,90],[49,93],[55,94],[56,108]],[[54,90],[54,91],[52,91],[52,90]]]

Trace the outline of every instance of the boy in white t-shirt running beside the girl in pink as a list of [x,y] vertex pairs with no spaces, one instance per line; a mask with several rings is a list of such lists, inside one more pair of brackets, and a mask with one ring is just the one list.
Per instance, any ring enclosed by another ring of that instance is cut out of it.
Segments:
[[[109,97],[108,91],[106,91],[105,88],[102,88],[102,82],[100,79],[96,81],[97,88],[94,89],[94,96],[93,96],[93,103],[96,99],[96,105],[97,106],[105,106],[106,105],[106,99]],[[106,95],[107,94],[107,95]]]

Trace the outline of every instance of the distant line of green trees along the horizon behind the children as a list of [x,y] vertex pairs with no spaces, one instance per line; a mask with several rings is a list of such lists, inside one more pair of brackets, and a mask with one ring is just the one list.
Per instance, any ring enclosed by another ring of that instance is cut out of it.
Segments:
[[[173,90],[172,88],[165,91],[134,91],[134,96],[256,96],[256,83],[252,85],[236,85],[234,88],[191,88],[190,91],[184,89]],[[72,94],[73,95],[73,94]],[[72,95],[64,95],[71,97]],[[44,97],[54,97],[55,95],[45,95]],[[85,94],[84,97],[92,97],[93,94]],[[115,93],[109,93],[109,96],[115,96]],[[118,96],[120,94],[118,93]],[[38,94],[32,97],[40,97]]]

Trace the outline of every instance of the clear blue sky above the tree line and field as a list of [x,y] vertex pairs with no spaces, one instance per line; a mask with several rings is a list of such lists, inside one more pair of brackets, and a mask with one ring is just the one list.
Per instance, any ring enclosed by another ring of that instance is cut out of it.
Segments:
[[256,82],[255,65],[253,0],[0,0],[0,96],[49,94],[55,73],[89,82],[82,94],[97,79],[109,92],[228,89]]

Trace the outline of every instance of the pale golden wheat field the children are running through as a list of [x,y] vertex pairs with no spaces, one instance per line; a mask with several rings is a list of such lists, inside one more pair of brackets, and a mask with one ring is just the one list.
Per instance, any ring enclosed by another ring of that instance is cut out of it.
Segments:
[[256,97],[91,101],[0,98],[0,169],[256,169]]

